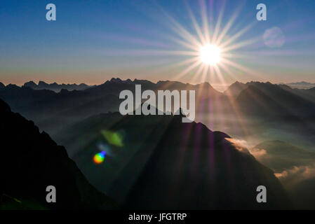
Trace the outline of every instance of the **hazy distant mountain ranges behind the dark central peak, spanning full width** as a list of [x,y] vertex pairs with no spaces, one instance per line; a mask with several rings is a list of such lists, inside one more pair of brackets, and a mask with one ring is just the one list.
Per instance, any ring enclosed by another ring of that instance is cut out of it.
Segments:
[[[213,130],[222,130],[235,137],[256,138],[255,129],[259,126],[263,128],[260,136],[264,138],[260,141],[266,141],[274,127],[279,127],[279,132],[291,132],[294,135],[298,130],[300,134],[303,133],[303,141],[297,141],[303,146],[309,146],[314,141],[314,134],[311,134],[314,133],[314,126],[309,121],[315,120],[315,90],[297,90],[287,85],[236,82],[222,93],[209,83],[152,83],[149,80],[112,78],[86,90],[60,92],[6,85],[0,87],[0,98],[8,102],[13,111],[34,120],[41,130],[55,134],[84,118],[118,111],[122,101],[119,92],[134,92],[136,84],[142,85],[142,91],[196,90],[196,120]],[[274,123],[281,124],[275,126]]]

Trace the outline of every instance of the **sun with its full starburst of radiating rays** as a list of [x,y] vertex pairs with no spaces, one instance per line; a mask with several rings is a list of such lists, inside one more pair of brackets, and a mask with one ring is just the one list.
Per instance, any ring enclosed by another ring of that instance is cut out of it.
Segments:
[[[189,25],[189,29],[185,27],[186,24],[176,21],[166,10],[163,10],[166,24],[172,29],[172,34],[176,34],[175,36],[168,36],[171,43],[175,43],[170,45],[170,47],[174,47],[173,49],[159,48],[154,50],[152,48],[149,50],[135,50],[135,52],[139,55],[146,54],[146,52],[147,55],[173,55],[176,61],[178,58],[178,62],[170,63],[161,69],[161,71],[165,71],[164,69],[180,70],[177,74],[174,74],[173,80],[180,80],[185,77],[191,78],[192,83],[209,80],[225,85],[226,80],[236,80],[236,73],[237,75],[246,73],[248,76],[261,75],[255,69],[242,64],[245,61],[243,59],[252,57],[251,54],[255,53],[254,50],[248,50],[248,47],[259,45],[261,38],[255,36],[240,40],[241,36],[244,36],[246,32],[255,27],[255,21],[245,27],[237,25],[241,28],[239,30],[232,29],[236,25],[237,18],[241,15],[241,7],[235,8],[234,13],[226,20],[224,25],[222,20],[224,18],[224,3],[217,5],[219,12],[216,18],[213,16],[213,1],[200,1],[200,12],[197,10],[198,18],[194,15],[189,3],[186,3],[186,5],[192,22],[192,27]],[[149,44],[158,44],[159,47],[166,46],[163,42],[155,41]],[[243,50],[241,50],[242,48]],[[244,48],[247,48],[247,50]],[[133,51],[132,54],[134,54]],[[166,61],[168,63],[168,60]]]

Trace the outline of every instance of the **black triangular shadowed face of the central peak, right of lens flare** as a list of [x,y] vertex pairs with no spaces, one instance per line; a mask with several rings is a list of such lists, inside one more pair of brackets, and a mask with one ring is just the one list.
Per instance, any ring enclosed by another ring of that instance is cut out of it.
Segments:
[[[288,200],[273,172],[238,151],[227,134],[175,116],[127,197],[134,209],[283,209]],[[256,202],[257,186],[267,203]]]

